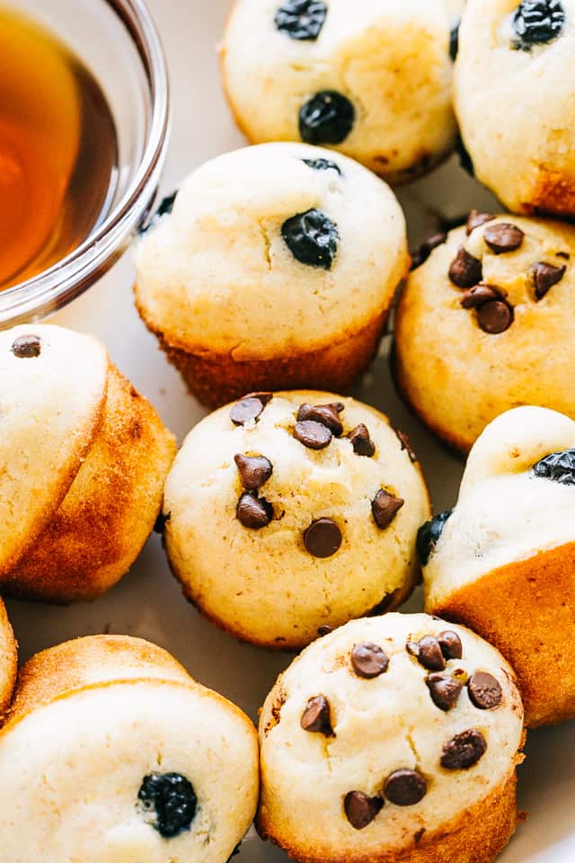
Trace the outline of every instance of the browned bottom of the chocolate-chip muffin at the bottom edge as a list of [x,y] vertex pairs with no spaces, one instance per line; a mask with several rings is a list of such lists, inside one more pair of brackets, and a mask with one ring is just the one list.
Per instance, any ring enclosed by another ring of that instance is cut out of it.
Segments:
[[321,839],[314,848],[297,848],[282,837],[280,827],[272,832],[262,809],[256,827],[262,839],[270,839],[298,863],[492,863],[517,827],[516,785],[514,770],[480,804],[465,809],[438,832],[416,833],[399,852],[362,853],[361,832],[354,853],[334,853],[322,847]]

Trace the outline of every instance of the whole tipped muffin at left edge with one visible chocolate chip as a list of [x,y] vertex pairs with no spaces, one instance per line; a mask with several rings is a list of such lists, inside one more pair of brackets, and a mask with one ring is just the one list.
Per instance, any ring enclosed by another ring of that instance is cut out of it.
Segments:
[[102,343],[57,326],[0,333],[0,592],[92,600],[154,527],[175,441]]

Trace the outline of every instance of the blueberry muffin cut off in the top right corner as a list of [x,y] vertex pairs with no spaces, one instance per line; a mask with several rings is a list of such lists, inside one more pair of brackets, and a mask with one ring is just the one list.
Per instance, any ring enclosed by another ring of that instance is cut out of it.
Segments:
[[517,213],[575,213],[574,0],[468,0],[456,113],[474,173]]

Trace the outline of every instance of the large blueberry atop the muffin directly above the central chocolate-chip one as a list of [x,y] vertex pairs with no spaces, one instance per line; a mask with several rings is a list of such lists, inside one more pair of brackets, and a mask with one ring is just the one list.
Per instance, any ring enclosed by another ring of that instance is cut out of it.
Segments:
[[288,218],[281,227],[281,236],[297,261],[309,267],[332,269],[340,234],[323,210],[308,209]]

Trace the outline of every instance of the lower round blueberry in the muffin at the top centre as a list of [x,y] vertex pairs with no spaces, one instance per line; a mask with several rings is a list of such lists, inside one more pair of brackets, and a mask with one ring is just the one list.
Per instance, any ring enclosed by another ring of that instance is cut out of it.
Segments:
[[315,93],[299,111],[299,134],[306,144],[341,144],[356,120],[356,110],[335,90]]

